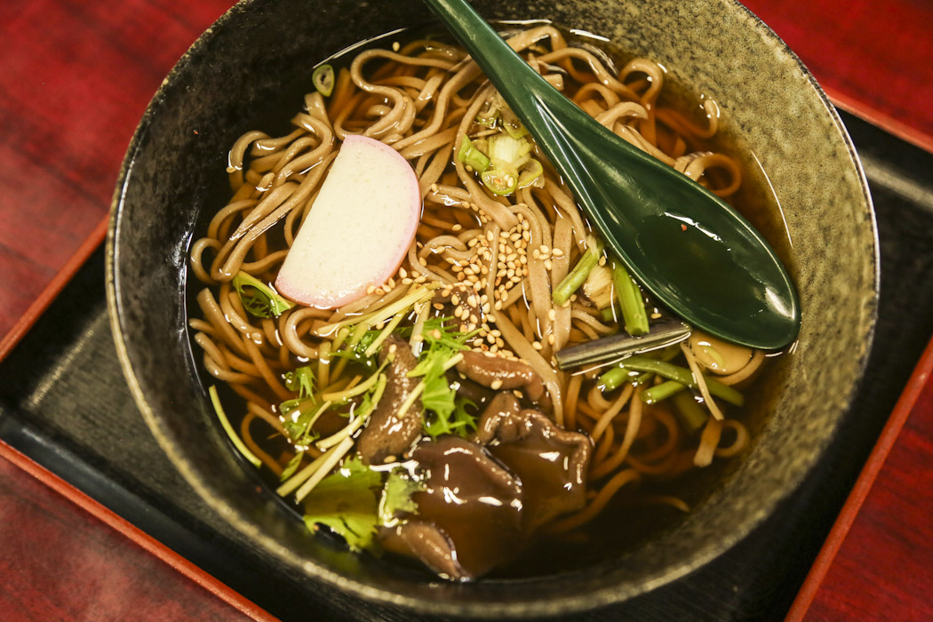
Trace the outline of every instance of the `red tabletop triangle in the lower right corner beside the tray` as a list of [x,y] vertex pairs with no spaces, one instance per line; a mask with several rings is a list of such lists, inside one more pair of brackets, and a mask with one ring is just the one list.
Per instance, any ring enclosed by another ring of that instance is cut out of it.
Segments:
[[787,622],[933,620],[933,340]]

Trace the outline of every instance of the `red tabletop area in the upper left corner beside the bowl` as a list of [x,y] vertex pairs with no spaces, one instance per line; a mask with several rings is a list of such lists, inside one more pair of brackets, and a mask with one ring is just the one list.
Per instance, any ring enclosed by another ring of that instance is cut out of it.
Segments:
[[[103,239],[95,228],[146,104],[231,4],[0,3],[0,336],[14,326],[20,335],[81,243]],[[0,355],[12,338],[0,341]]]

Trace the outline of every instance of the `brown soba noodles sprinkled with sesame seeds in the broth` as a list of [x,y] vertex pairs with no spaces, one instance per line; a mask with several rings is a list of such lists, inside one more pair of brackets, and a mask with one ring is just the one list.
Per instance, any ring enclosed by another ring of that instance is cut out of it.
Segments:
[[[735,159],[708,151],[705,143],[717,132],[717,105],[703,100],[698,122],[663,104],[665,71],[658,64],[635,59],[617,71],[605,53],[568,45],[550,25],[508,41],[622,139],[721,197],[740,187]],[[553,301],[552,291],[586,252],[592,232],[536,148],[532,155],[543,173],[508,196],[484,187],[455,157],[465,136],[481,142],[497,131],[476,122],[484,111],[501,106],[497,97],[459,48],[419,39],[397,51],[372,48],[356,54],[336,75],[329,97],[305,96],[304,110],[291,119],[294,130],[286,135],[249,131],[240,137],[230,148],[230,200],[191,247],[191,269],[205,285],[197,296],[201,317],[190,323],[204,369],[243,398],[240,409],[246,414],[239,433],[276,477],[283,470],[295,474],[280,488],[290,493],[320,481],[350,455],[362,422],[326,445],[290,438],[283,403],[294,402],[299,393],[286,374],[309,366],[322,399],[329,396],[332,402],[341,394],[371,391],[376,375],[361,373],[337,355],[358,335],[351,331],[356,323],[369,319],[367,327],[386,335],[407,325],[406,339],[417,352],[425,323],[440,310],[453,310],[454,324],[469,335],[466,347],[531,366],[547,392],[548,405],[538,408],[557,425],[591,439],[585,505],[551,521],[545,532],[579,528],[622,491],[629,491],[630,503],[686,510],[682,500],[652,493],[647,482],[738,454],[748,444],[748,432],[720,412],[687,347],[685,366],[699,385],[695,402],[713,413],[704,415],[702,430],[685,427],[670,402],[644,401],[661,376],[634,374],[619,388],[604,391],[598,378],[605,370],[568,373],[553,365],[554,352],[619,331],[621,318],[606,317],[582,291],[563,305]],[[275,280],[341,141],[352,134],[391,145],[411,162],[424,200],[415,242],[392,278],[351,304],[336,310],[295,305],[277,317],[255,316],[244,306],[234,277],[245,273],[262,283]],[[599,264],[606,266],[606,256]],[[433,288],[428,297],[406,302],[427,287]],[[648,309],[655,311],[652,318],[663,312]],[[679,351],[672,355],[685,358]],[[755,352],[747,366],[719,380],[747,383],[762,359]],[[289,411],[292,420],[296,412],[311,416],[305,411],[318,404],[295,408]],[[321,412],[314,417],[327,418]],[[720,446],[724,431],[728,440]],[[267,442],[270,437],[278,444]],[[338,448],[343,453],[335,453]],[[639,486],[646,491],[639,492]]]

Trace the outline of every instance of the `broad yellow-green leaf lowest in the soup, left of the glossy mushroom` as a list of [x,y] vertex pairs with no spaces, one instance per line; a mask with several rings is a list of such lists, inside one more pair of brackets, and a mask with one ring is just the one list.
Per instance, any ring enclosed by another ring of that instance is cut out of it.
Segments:
[[347,459],[305,497],[305,525],[311,531],[317,525],[327,525],[354,550],[371,548],[379,524],[379,503],[373,489],[382,483],[382,476],[358,458]]

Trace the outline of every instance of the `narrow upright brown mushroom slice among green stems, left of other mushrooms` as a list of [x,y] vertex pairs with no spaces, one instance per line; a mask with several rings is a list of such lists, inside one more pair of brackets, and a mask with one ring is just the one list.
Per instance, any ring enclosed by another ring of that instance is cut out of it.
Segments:
[[[393,349],[392,346],[395,346]],[[396,336],[386,339],[379,352],[383,363],[393,351],[392,362],[386,367],[386,382],[379,405],[369,416],[369,422],[359,435],[356,448],[363,461],[381,464],[411,449],[421,435],[421,399],[416,398],[411,408],[401,417],[398,408],[408,399],[420,378],[409,378],[408,373],[417,365],[411,346]]]

